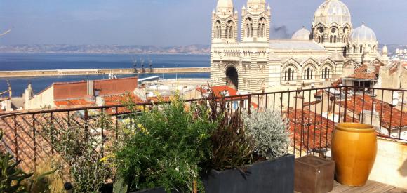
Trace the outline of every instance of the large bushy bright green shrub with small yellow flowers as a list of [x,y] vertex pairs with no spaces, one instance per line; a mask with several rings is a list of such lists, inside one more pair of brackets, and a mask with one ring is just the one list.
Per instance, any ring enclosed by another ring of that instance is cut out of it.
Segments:
[[126,128],[115,154],[118,177],[128,182],[129,189],[164,187],[167,192],[190,192],[196,180],[202,190],[199,164],[207,159],[216,126],[208,110],[192,105],[187,111],[177,97],[133,119],[135,128]]

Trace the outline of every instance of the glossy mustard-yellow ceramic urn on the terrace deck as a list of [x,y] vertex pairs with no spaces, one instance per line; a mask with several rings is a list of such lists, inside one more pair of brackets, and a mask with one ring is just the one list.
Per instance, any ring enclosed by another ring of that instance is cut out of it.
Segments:
[[378,150],[375,128],[367,124],[336,124],[331,150],[336,180],[342,185],[363,186]]

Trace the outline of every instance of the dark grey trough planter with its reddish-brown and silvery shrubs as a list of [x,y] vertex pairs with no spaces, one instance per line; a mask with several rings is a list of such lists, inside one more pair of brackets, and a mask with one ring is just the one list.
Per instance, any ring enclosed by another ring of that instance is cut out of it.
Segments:
[[280,112],[229,113],[211,100],[218,127],[211,138],[207,192],[293,192],[294,157],[286,154],[288,123]]

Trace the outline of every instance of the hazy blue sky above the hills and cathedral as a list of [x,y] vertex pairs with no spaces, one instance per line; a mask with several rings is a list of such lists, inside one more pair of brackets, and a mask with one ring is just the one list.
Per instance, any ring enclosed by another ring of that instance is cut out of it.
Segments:
[[[210,44],[217,0],[0,0],[0,44]],[[268,0],[272,27],[311,26],[324,0]],[[354,27],[366,22],[380,44],[407,44],[407,0],[343,0]],[[241,13],[246,0],[234,0]],[[273,36],[279,36],[272,34]]]

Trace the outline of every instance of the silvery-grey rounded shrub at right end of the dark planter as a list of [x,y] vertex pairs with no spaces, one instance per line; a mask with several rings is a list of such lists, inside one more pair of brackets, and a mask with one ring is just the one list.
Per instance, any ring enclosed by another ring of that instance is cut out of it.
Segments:
[[281,117],[281,112],[244,113],[243,119],[249,135],[255,140],[255,154],[267,159],[282,157],[290,143],[288,121]]

